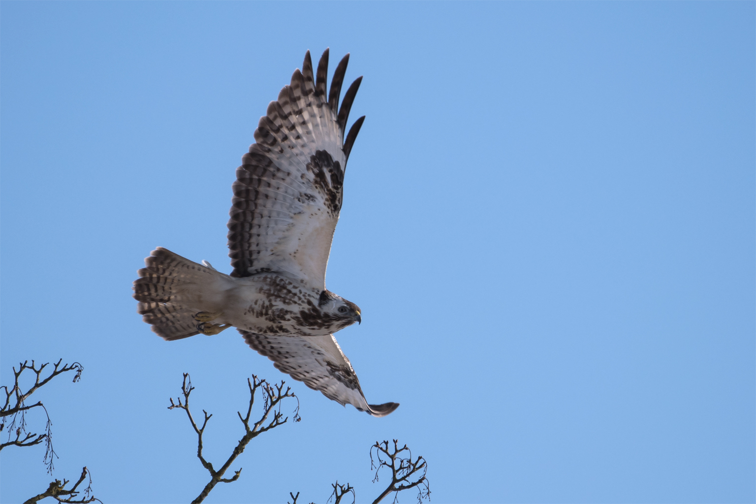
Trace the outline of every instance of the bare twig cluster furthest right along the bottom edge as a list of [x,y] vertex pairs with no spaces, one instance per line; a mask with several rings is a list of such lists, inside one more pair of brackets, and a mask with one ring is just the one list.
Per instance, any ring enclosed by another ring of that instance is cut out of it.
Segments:
[[[376,458],[373,459],[373,449],[376,450]],[[406,454],[404,452],[407,452]],[[405,455],[408,457],[405,458]],[[377,504],[389,493],[396,492],[394,494],[394,502],[398,502],[398,495],[401,490],[409,490],[410,488],[417,487],[417,502],[423,502],[423,499],[430,500],[430,487],[428,479],[426,478],[426,472],[428,472],[428,464],[422,456],[418,456],[417,459],[412,460],[412,452],[407,445],[404,447],[398,447],[398,441],[394,440],[394,448],[389,451],[389,441],[383,441],[381,443],[376,441],[370,447],[370,468],[376,470],[376,476],[373,478],[373,483],[378,481],[378,472],[381,468],[387,467],[391,469],[391,483],[383,493],[373,501],[373,504]],[[416,475],[413,481],[411,476]]]

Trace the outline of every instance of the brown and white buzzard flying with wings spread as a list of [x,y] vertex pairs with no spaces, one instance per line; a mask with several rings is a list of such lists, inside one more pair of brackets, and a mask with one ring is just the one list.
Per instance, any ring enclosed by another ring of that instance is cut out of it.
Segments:
[[138,313],[163,339],[215,335],[234,326],[274,366],[342,405],[386,416],[397,403],[367,404],[333,333],[361,322],[360,308],[326,289],[344,170],[364,116],[345,136],[362,77],[344,95],[347,54],[327,89],[328,49],[313,73],[310,52],[242,157],[228,221],[230,275],[158,247],[134,282]]

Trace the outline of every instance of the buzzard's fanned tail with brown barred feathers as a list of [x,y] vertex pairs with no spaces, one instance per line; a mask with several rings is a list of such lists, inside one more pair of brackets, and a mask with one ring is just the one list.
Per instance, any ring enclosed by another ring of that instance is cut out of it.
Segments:
[[134,298],[139,301],[137,311],[142,320],[169,341],[199,334],[193,317],[197,310],[190,306],[191,298],[197,286],[212,282],[219,273],[163,247],[150,252],[144,264],[134,282]]

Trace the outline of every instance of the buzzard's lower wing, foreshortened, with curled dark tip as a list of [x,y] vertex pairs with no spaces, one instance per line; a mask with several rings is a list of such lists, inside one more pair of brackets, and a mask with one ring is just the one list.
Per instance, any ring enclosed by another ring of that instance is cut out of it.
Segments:
[[352,404],[372,416],[386,416],[398,403],[367,404],[355,369],[341,351],[336,338],[327,336],[279,336],[239,330],[244,341],[293,379],[339,404]]

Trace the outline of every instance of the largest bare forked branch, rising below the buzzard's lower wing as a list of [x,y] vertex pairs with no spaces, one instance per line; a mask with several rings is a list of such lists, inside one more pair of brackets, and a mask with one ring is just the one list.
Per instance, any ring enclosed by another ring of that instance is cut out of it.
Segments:
[[[212,414],[208,414],[205,410],[202,410],[202,413],[204,414],[202,427],[197,426],[197,422],[194,421],[194,417],[189,410],[189,394],[191,394],[191,391],[194,390],[194,387],[191,385],[191,377],[189,376],[189,373],[184,373],[184,382],[181,384],[181,394],[184,395],[184,402],[181,403],[181,398],[179,397],[176,399],[176,403],[174,403],[173,398],[171,398],[171,405],[168,407],[168,409],[172,410],[174,408],[181,408],[181,410],[185,410],[187,412],[189,422],[191,422],[192,428],[194,428],[194,431],[197,433],[197,458],[200,459],[203,467],[206,468],[210,473],[209,483],[205,485],[205,488],[202,490],[200,495],[197,496],[197,499],[194,499],[192,501],[192,504],[202,502],[216,484],[231,483],[232,481],[237,481],[241,474],[242,468],[239,468],[238,471],[234,472],[233,478],[223,478],[223,475],[225,475],[225,472],[228,471],[228,468],[231,466],[237,456],[241,455],[249,441],[252,441],[253,438],[256,438],[263,432],[271,430],[271,428],[276,428],[279,425],[283,425],[289,419],[288,416],[286,418],[283,418],[283,414],[281,414],[280,412],[280,402],[286,397],[296,398],[296,395],[293,394],[290,387],[287,387],[284,390],[283,384],[285,382],[281,381],[280,385],[271,385],[264,379],[258,379],[258,377],[255,375],[252,376],[252,380],[247,379],[246,382],[247,385],[249,385],[249,407],[246,410],[246,416],[241,416],[241,413],[237,412],[239,419],[244,425],[245,434],[243,438],[240,439],[239,444],[237,444],[237,447],[234,448],[234,451],[231,453],[231,456],[228,457],[228,460],[226,460],[225,464],[223,464],[223,466],[217,471],[215,470],[215,468],[213,468],[212,463],[208,462],[202,454],[202,436],[205,432],[208,420],[212,418]],[[255,403],[255,394],[258,389],[262,392],[263,412],[260,419],[257,422],[254,422],[252,427],[250,428],[249,418],[252,415],[252,407]],[[276,410],[276,407],[278,407],[278,410]],[[271,413],[273,413],[273,419],[268,422],[268,416]],[[297,407],[294,410],[293,420],[295,422],[299,422],[300,420],[299,399],[297,399]],[[297,493],[297,496],[299,496],[299,493]]]

